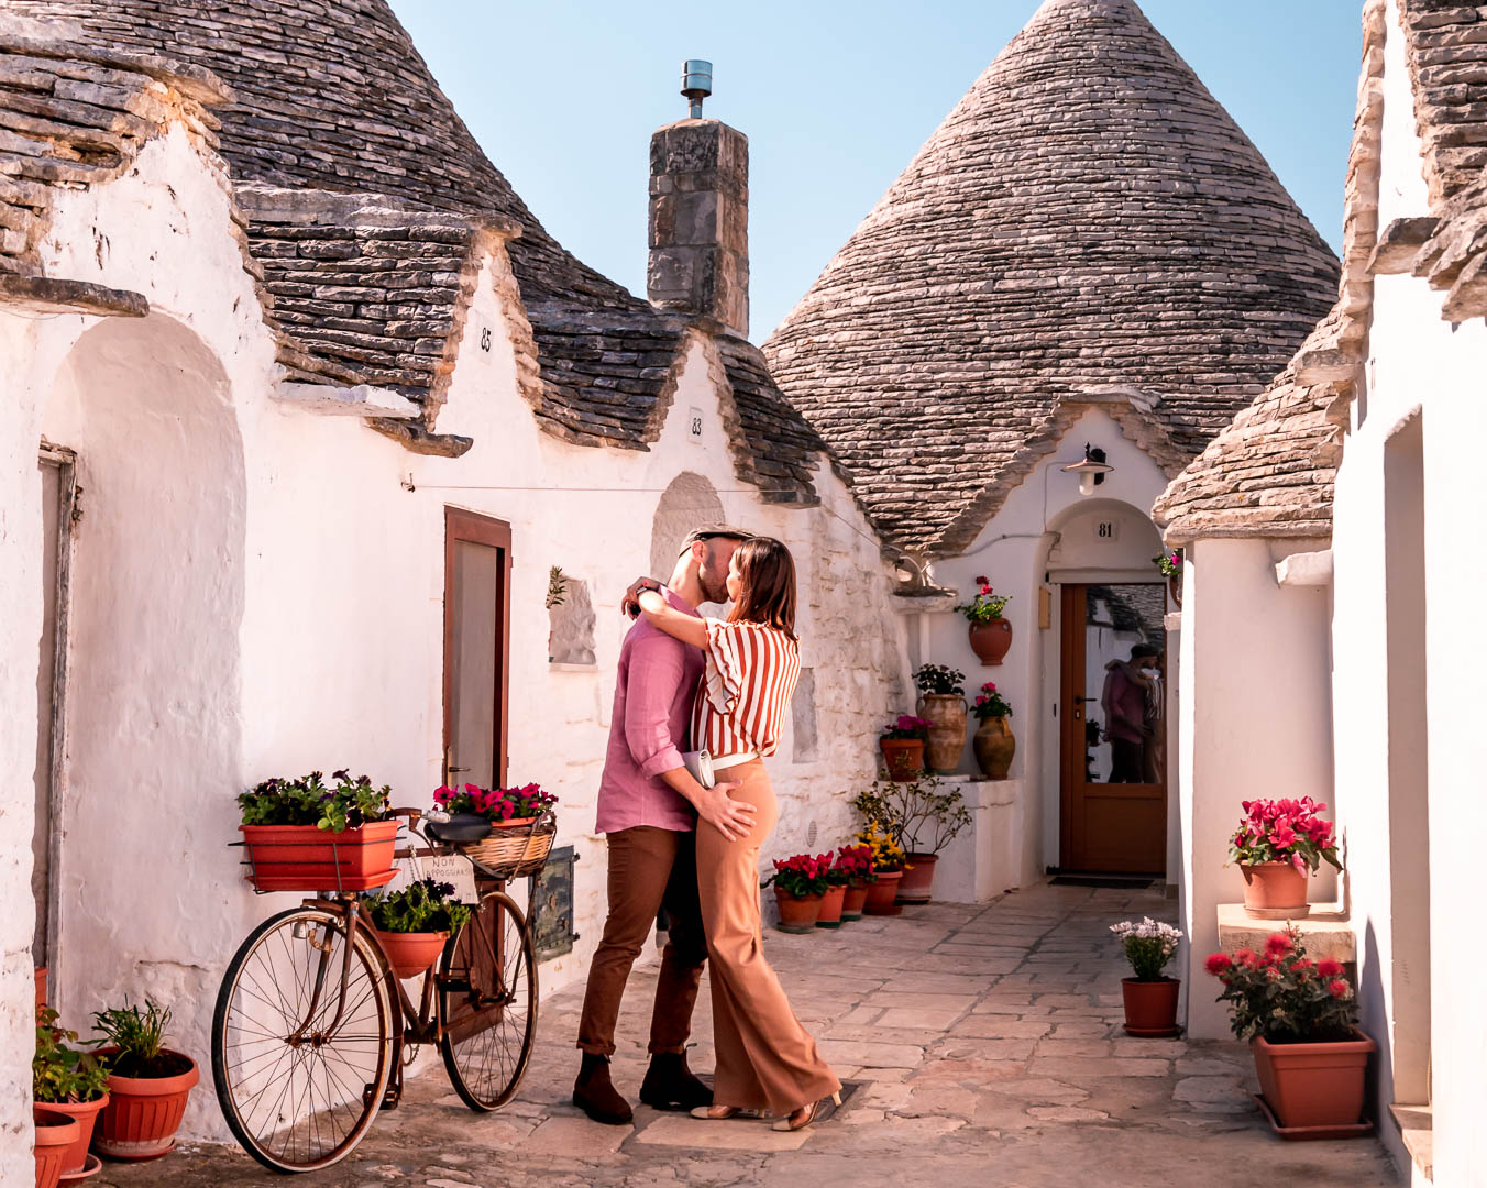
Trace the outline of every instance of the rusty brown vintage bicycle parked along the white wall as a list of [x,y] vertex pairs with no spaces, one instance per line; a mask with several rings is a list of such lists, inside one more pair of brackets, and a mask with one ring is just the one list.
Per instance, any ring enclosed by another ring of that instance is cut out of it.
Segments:
[[[233,1136],[275,1172],[314,1172],[351,1154],[378,1111],[397,1108],[403,1069],[424,1044],[439,1045],[449,1082],[474,1111],[510,1102],[531,1060],[535,947],[507,886],[540,874],[553,815],[495,837],[488,822],[439,822],[418,809],[388,816],[407,830],[396,859],[470,858],[479,907],[422,975],[416,1004],[378,941],[366,880],[342,876],[349,864],[339,856],[329,864],[333,886],[302,888],[315,897],[242,941],[217,995],[211,1069]],[[333,850],[336,842],[321,834],[309,845]],[[284,889],[251,846],[247,855],[254,891]]]

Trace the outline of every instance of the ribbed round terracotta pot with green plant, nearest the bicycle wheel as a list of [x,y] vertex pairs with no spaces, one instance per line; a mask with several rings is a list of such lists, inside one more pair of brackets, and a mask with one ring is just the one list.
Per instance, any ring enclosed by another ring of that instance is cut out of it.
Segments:
[[196,1062],[165,1047],[170,1008],[144,999],[144,1010],[112,1007],[94,1014],[103,1035],[98,1057],[109,1066],[109,1106],[98,1120],[94,1149],[112,1160],[153,1160],[175,1146],[175,1131],[192,1088]]

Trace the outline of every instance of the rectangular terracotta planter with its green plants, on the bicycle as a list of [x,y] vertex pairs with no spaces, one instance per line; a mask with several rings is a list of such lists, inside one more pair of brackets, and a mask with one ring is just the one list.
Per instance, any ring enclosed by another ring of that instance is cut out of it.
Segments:
[[250,879],[259,891],[367,891],[393,880],[391,788],[320,772],[266,779],[238,795]]

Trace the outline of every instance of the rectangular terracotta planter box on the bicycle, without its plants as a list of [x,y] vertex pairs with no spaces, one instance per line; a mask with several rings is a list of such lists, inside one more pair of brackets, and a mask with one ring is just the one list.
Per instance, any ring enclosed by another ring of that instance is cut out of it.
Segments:
[[396,821],[329,833],[317,825],[238,825],[259,891],[367,891],[393,882]]

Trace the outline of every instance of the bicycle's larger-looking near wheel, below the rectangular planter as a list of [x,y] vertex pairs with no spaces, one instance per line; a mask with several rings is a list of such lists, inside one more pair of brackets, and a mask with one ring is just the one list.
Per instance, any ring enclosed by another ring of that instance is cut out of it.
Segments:
[[[343,917],[294,907],[259,925],[222,980],[211,1023],[217,1100],[242,1149],[274,1172],[345,1158],[382,1106],[393,1068],[393,1007],[373,943]],[[317,987],[314,1017],[308,1020]]]

